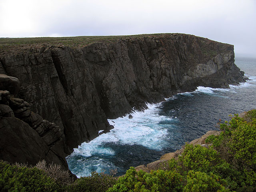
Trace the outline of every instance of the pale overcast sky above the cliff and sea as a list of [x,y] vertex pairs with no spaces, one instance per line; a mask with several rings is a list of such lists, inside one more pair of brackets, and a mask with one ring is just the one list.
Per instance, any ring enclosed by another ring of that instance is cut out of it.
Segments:
[[256,0],[0,0],[0,37],[184,33],[256,57]]

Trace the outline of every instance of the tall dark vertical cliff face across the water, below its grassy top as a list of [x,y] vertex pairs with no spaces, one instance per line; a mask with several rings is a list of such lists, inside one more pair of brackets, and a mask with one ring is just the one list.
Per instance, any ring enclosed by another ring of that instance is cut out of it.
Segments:
[[59,126],[66,154],[145,102],[244,82],[232,45],[186,34],[19,48],[0,54],[0,73],[18,78],[19,97]]

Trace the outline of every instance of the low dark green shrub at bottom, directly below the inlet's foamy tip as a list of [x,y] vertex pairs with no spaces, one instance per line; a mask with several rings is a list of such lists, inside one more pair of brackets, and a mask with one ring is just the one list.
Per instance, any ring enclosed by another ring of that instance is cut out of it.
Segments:
[[91,176],[78,178],[69,185],[68,192],[105,192],[116,183],[113,175],[92,172]]

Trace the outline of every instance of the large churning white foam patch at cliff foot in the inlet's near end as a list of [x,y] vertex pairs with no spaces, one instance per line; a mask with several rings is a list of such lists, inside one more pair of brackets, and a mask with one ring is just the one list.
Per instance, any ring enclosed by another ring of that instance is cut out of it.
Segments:
[[[108,167],[115,168],[109,160],[96,158],[97,155],[115,155],[112,148],[104,146],[107,143],[120,145],[137,144],[153,150],[162,150],[167,145],[167,141],[164,138],[168,134],[168,127],[159,122],[166,120],[166,117],[158,115],[157,107],[160,103],[146,105],[148,109],[144,110],[144,112],[132,112],[132,119],[129,119],[129,114],[114,120],[109,119],[108,122],[114,126],[114,129],[88,143],[84,142],[74,149],[74,152],[67,157],[69,164],[76,165],[72,168],[72,172],[80,177],[90,175],[92,170],[101,172]],[[168,120],[171,119],[168,118]],[[88,161],[88,159],[90,160]]]

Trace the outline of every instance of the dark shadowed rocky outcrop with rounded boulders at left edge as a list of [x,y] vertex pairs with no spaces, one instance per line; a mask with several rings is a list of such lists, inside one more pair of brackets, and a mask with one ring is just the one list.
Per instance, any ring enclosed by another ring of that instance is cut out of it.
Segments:
[[68,169],[63,132],[32,112],[26,101],[10,94],[9,90],[19,89],[17,78],[3,77],[0,83],[7,81],[8,84],[5,90],[0,90],[0,159],[30,165],[44,159]]

